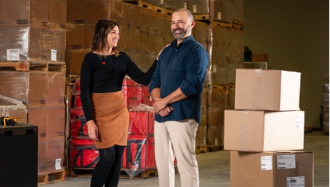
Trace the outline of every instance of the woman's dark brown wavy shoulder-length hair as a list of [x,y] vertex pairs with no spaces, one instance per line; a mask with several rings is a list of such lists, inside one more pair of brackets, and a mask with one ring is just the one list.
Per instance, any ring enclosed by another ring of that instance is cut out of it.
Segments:
[[[94,27],[93,38],[91,42],[91,51],[105,53],[108,47],[108,40],[106,37],[110,33],[111,29],[119,25],[115,21],[110,20],[99,20]],[[119,56],[117,47],[113,47],[113,53],[115,56]]]

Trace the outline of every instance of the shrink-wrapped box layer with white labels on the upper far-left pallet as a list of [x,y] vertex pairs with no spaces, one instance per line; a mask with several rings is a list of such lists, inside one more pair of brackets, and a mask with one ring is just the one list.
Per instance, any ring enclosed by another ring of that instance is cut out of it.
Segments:
[[48,25],[1,27],[0,34],[8,36],[0,39],[3,44],[0,47],[0,60],[64,62],[65,29],[49,29]]

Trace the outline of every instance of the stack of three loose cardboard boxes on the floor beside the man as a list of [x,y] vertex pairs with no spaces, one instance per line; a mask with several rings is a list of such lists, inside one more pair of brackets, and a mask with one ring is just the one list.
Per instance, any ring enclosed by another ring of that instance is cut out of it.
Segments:
[[235,110],[226,110],[224,149],[231,186],[313,186],[314,153],[304,147],[300,73],[237,69]]

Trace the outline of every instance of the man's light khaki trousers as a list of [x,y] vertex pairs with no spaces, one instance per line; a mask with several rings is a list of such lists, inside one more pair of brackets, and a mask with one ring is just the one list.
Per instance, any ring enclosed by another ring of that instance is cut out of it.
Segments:
[[181,187],[198,187],[196,131],[193,119],[154,124],[155,156],[159,187],[175,186],[174,158],[177,160]]

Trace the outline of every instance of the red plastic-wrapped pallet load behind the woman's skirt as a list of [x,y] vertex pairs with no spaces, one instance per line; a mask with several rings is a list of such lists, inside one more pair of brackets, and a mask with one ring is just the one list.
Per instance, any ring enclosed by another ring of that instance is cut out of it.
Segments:
[[[137,84],[132,79],[123,80],[123,97],[130,114],[128,146],[123,153],[122,168],[134,177],[145,169],[156,169],[154,159],[154,109],[148,92],[149,86]],[[94,168],[99,153],[88,136],[86,119],[80,100],[80,79],[72,89],[73,108],[69,110],[69,168]]]

